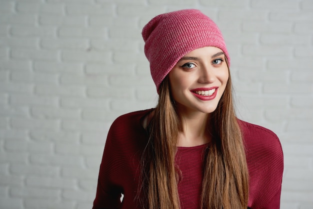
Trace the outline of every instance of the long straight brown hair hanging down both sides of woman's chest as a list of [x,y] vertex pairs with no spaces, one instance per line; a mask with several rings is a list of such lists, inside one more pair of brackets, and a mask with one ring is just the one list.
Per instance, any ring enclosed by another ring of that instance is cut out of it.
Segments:
[[[201,208],[246,208],[248,171],[242,137],[232,102],[230,73],[217,108],[208,117],[213,135],[204,157]],[[142,190],[149,209],[179,209],[174,165],[181,122],[170,95],[168,76],[159,86],[159,98],[149,123],[149,140],[142,158]]]

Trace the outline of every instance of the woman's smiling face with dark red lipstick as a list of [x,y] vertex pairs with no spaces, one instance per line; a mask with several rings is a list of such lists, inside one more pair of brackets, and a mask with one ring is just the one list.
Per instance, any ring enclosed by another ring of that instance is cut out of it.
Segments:
[[228,80],[225,55],[217,47],[197,48],[185,54],[168,76],[178,112],[213,112]]

